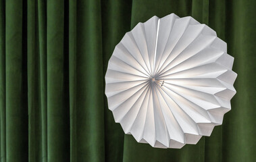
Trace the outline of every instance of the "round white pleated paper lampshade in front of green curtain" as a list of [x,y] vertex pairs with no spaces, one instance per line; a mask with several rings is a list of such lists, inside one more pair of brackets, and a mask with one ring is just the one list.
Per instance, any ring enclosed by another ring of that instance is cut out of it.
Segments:
[[231,109],[233,61],[205,24],[190,16],[154,16],[116,45],[105,75],[108,107],[137,142],[197,144]]

